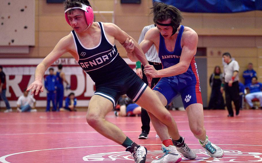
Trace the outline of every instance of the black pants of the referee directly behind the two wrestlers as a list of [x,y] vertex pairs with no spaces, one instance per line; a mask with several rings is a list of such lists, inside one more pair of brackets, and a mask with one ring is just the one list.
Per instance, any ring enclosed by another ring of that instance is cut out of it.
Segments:
[[[161,63],[155,63],[155,62],[149,62],[149,65],[153,65],[155,67],[156,70],[161,70],[162,69],[162,64]],[[142,72],[143,72],[143,81],[148,85],[147,82],[147,77],[144,74],[144,66],[141,66]],[[160,80],[159,78],[153,78],[151,81],[151,89],[157,84],[157,82]],[[142,131],[146,131],[147,134],[150,131],[150,118],[149,115],[147,113],[147,110],[145,110],[144,108],[142,108],[141,110],[141,122],[142,122]]]

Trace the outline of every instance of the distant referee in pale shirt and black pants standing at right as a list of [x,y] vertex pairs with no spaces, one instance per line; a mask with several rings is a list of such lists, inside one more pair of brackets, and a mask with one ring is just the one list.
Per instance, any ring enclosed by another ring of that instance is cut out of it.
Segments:
[[234,117],[231,101],[233,101],[235,104],[236,115],[239,114],[239,109],[240,109],[239,84],[238,84],[239,65],[237,61],[231,59],[231,55],[229,53],[224,53],[223,59],[225,61],[224,82],[221,85],[221,93],[223,93],[223,88],[224,88],[225,96],[226,96],[226,106],[229,113],[227,116]]

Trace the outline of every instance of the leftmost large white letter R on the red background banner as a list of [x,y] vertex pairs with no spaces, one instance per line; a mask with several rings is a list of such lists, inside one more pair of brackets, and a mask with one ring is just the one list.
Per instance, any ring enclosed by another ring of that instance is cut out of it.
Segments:
[[11,93],[9,90],[9,87],[12,88],[12,90],[15,93],[16,97],[19,97],[22,95],[21,89],[19,88],[19,83],[22,81],[22,75],[15,75],[14,79],[9,79],[9,76],[6,76],[6,97],[11,97]]

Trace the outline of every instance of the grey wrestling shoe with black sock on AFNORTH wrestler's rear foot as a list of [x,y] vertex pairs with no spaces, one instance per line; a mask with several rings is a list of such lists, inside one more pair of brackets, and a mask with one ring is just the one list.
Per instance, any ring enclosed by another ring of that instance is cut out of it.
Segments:
[[[182,137],[182,136],[181,136]],[[184,137],[182,137],[183,141],[182,143],[179,143],[179,142],[176,142],[174,140],[172,140],[173,144],[176,146],[176,149],[181,153],[183,154],[183,156],[185,158],[188,158],[188,159],[195,159],[196,158],[196,154],[195,152],[193,152],[188,146],[187,144],[185,143],[185,139]]]

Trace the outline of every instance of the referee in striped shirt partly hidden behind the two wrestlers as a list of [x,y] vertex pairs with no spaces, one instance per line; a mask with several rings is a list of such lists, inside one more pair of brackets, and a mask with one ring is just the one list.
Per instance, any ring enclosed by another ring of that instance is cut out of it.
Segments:
[[[147,31],[151,28],[154,28],[155,24],[151,24],[149,26],[145,26],[140,34],[139,40],[138,40],[138,44],[140,44],[145,37],[145,34],[147,33]],[[145,53],[145,56],[147,58],[147,61],[149,62],[150,65],[153,65],[155,67],[156,70],[161,70],[162,69],[162,64],[161,61],[158,57],[158,53],[155,49],[155,46],[152,45],[149,50],[147,51],[147,53]],[[141,62],[137,61],[136,62],[136,74],[148,85],[147,82],[147,77],[144,74],[144,66],[142,65],[141,67]],[[151,88],[153,88],[157,82],[160,80],[160,78],[153,78],[151,81]],[[141,121],[142,121],[142,133],[139,135],[138,139],[147,139],[148,138],[148,134],[150,131],[150,118],[148,116],[148,113],[145,109],[142,108],[141,110]]]

